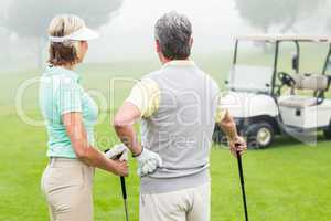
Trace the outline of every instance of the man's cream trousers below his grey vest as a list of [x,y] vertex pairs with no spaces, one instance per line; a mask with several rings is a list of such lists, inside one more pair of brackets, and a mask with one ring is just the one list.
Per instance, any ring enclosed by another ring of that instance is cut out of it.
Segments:
[[210,182],[192,189],[140,194],[140,221],[210,221]]

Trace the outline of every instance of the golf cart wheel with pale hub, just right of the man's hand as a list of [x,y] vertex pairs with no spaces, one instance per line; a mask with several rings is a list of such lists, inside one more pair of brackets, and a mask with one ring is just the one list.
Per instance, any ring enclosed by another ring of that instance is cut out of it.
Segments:
[[270,124],[256,123],[247,128],[246,136],[249,149],[263,149],[273,143],[275,133]]

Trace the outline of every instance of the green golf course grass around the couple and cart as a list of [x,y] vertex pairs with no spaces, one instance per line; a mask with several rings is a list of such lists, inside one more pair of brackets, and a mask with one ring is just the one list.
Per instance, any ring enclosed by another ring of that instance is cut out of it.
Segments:
[[[263,59],[247,56],[250,61]],[[264,60],[267,57],[264,57]],[[196,56],[196,63],[222,85],[229,64],[228,54]],[[312,66],[316,65],[313,60]],[[281,65],[286,63],[282,62]],[[308,65],[308,64],[306,64]],[[139,78],[159,67],[157,61],[88,64],[79,70],[87,90],[97,90],[107,101],[107,118],[96,127],[98,147],[114,143],[109,116],[127,96],[132,83],[114,77]],[[15,91],[39,71],[0,73],[0,221],[47,220],[47,209],[40,191],[40,177],[47,164],[46,134],[43,127],[26,125],[15,113]],[[24,93],[28,115],[40,119],[36,85]],[[111,92],[116,93],[110,101]],[[115,105],[110,106],[110,102]],[[253,221],[328,221],[331,219],[331,143],[319,137],[314,147],[291,138],[277,138],[266,150],[248,151],[244,157],[248,210]],[[136,162],[130,160],[127,179],[131,220],[138,220],[139,180]],[[236,160],[225,147],[214,145],[211,151],[212,221],[243,220],[242,196]],[[97,170],[94,187],[95,220],[124,220],[119,179]]]

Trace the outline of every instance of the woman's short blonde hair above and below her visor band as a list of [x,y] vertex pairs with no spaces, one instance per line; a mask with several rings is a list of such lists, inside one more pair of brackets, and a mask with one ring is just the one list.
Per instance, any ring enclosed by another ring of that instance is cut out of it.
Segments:
[[[85,27],[85,22],[79,17],[73,14],[57,15],[50,23],[49,35],[65,36],[83,27]],[[49,52],[49,62],[52,65],[75,65],[82,62],[79,42],[77,41],[51,42]]]

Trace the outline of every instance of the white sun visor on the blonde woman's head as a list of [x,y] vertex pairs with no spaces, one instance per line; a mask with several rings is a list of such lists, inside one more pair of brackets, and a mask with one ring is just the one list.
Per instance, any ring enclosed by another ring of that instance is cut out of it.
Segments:
[[51,42],[63,43],[65,41],[89,41],[99,38],[99,33],[88,29],[87,27],[83,27],[82,29],[71,33],[65,36],[49,36]]

